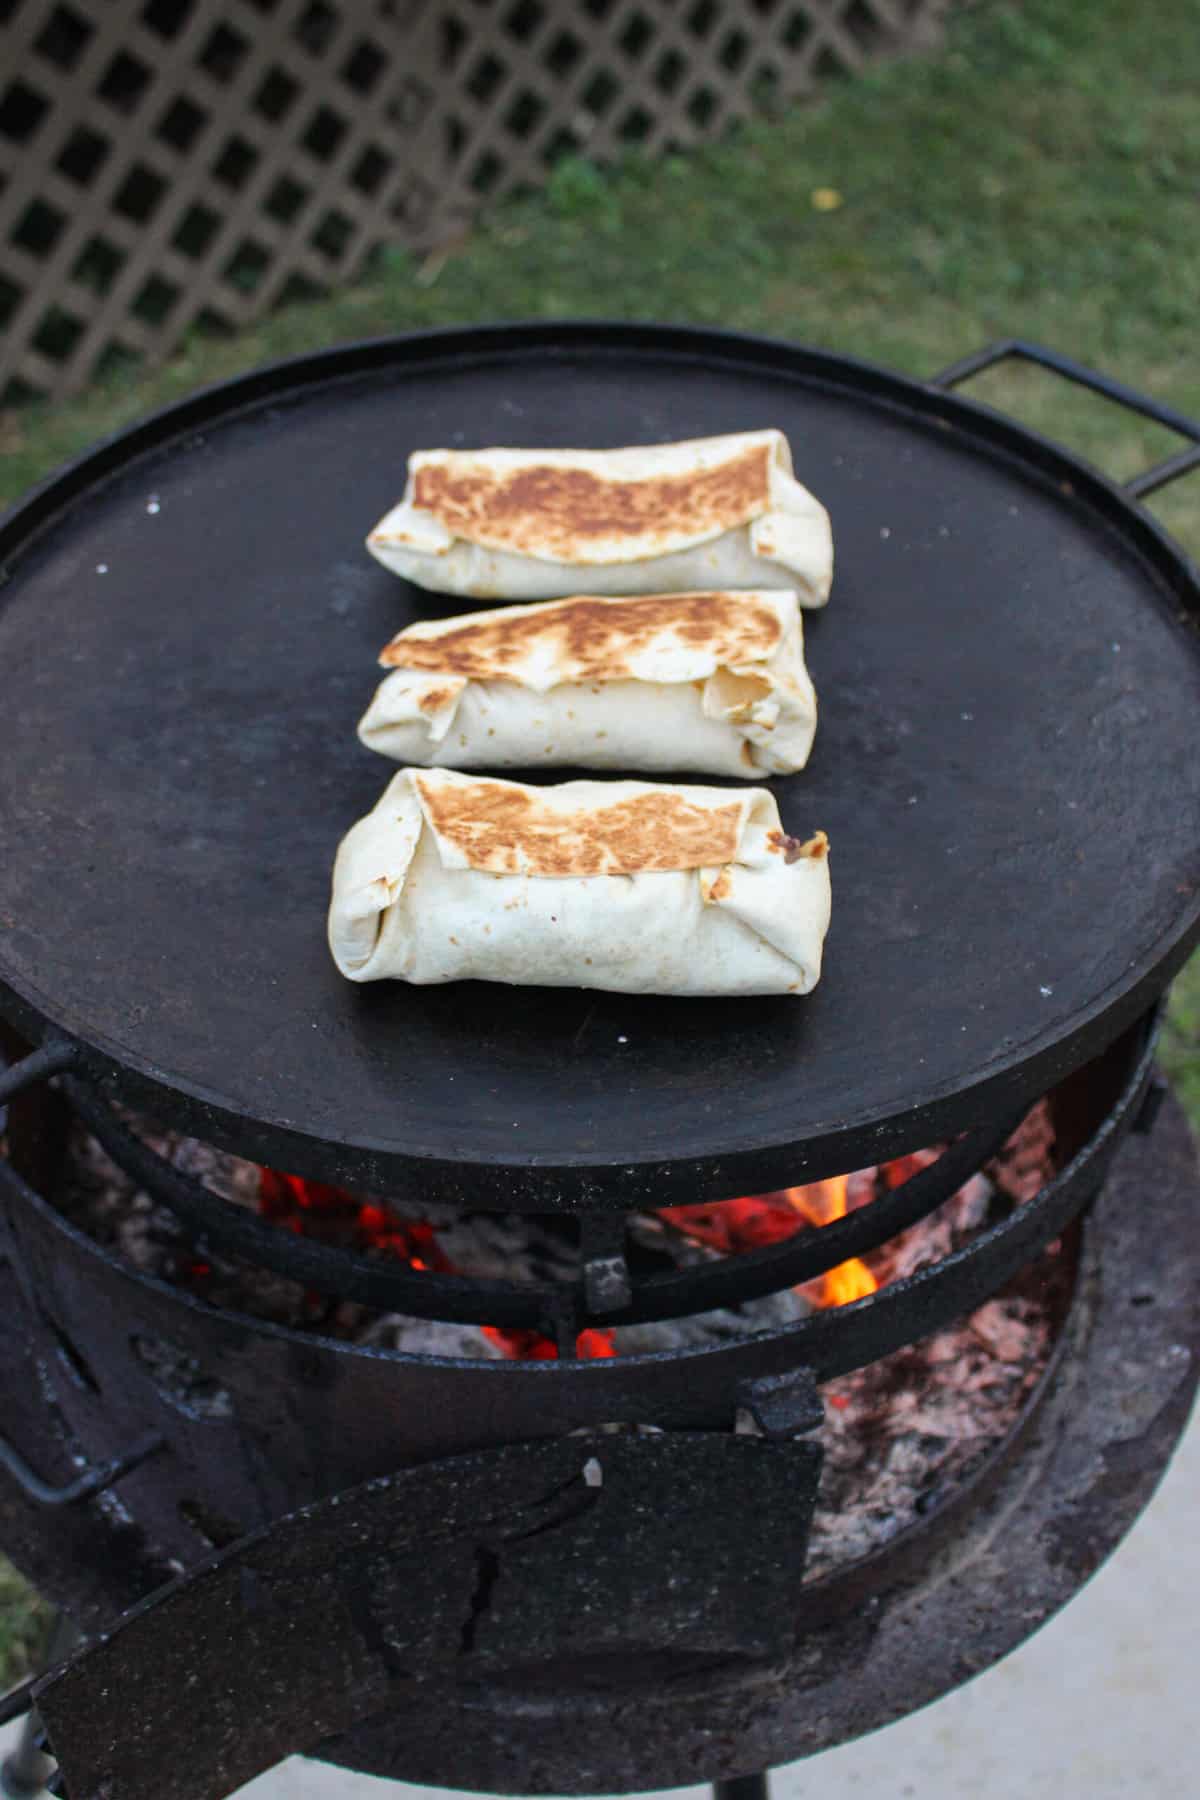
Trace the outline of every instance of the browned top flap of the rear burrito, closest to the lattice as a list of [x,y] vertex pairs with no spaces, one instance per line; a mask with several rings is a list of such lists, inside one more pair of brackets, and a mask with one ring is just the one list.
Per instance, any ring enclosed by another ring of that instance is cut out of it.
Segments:
[[419,464],[412,499],[455,536],[488,549],[579,562],[596,542],[640,538],[653,556],[664,538],[716,536],[763,513],[770,454],[770,445],[752,445],[712,468],[633,481],[561,463],[498,472],[462,454]]

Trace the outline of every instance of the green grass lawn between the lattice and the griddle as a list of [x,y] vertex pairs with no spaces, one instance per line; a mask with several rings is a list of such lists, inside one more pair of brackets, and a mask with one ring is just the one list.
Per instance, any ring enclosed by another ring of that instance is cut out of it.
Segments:
[[[385,252],[327,301],[70,405],[0,414],[0,500],[97,436],[257,362],[421,326],[610,315],[725,324],[930,374],[1040,338],[1200,416],[1200,61],[1195,0],[982,4],[937,56],[826,88],[729,142],[613,171],[567,162],[441,259]],[[1031,371],[977,398],[1128,475],[1175,446]],[[1200,553],[1200,475],[1159,506]],[[1200,963],[1164,1060],[1200,1125]],[[4,1570],[0,1568],[0,1582]],[[27,1620],[0,1586],[0,1685]],[[7,1633],[7,1634],[5,1634]],[[7,1663],[5,1663],[7,1658]]]

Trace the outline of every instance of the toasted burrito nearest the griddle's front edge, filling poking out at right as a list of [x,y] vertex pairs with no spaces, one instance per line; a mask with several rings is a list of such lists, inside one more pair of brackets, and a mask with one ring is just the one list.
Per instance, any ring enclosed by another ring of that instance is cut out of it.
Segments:
[[828,923],[826,835],[766,788],[401,769],[342,841],[329,949],[351,981],[808,994]]

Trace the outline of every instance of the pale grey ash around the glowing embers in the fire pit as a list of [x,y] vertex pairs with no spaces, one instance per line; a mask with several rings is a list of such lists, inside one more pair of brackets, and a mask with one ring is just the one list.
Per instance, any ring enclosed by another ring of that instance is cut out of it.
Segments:
[[[223,1199],[255,1208],[259,1170],[221,1150],[164,1132],[126,1114],[126,1123],[176,1168]],[[1033,1197],[1054,1170],[1054,1130],[1045,1103],[1018,1127],[1009,1145],[937,1213],[867,1258],[880,1285],[941,1262],[986,1224]],[[912,1166],[936,1159],[925,1152]],[[883,1170],[860,1170],[849,1206],[869,1202],[885,1186]],[[502,1359],[506,1348],[475,1325],[450,1325],[401,1314],[376,1314],[306,1292],[295,1282],[239,1265],[196,1247],[173,1213],[117,1168],[76,1121],[59,1195],[67,1217],[133,1267],[185,1287],[214,1305],[293,1330],[311,1330],[358,1345],[416,1355]],[[572,1282],[579,1273],[569,1228],[527,1215],[462,1215],[450,1208],[389,1199],[401,1220],[434,1228],[448,1262],[468,1274],[506,1280]],[[353,1240],[336,1220],[327,1242]],[[342,1237],[338,1237],[342,1233]],[[630,1220],[630,1256],[644,1267],[687,1265],[718,1253],[684,1237],[657,1215]],[[1058,1246],[1000,1296],[963,1323],[824,1390],[824,1471],[810,1541],[808,1579],[878,1550],[937,1508],[1016,1422],[1042,1373],[1054,1321],[1067,1292]],[[784,1291],[739,1309],[687,1319],[621,1327],[617,1354],[678,1350],[790,1325],[811,1312],[811,1298]]]

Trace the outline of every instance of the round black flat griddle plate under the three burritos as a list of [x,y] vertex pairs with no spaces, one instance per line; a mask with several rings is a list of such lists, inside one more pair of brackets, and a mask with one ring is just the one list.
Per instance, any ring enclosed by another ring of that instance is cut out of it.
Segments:
[[[837,549],[817,745],[772,781],[833,846],[817,992],[344,981],[333,853],[394,774],[354,736],[374,659],[464,610],[363,549],[408,452],[766,425]],[[259,1161],[506,1206],[811,1179],[1033,1098],[1198,934],[1187,563],[1063,452],[838,356],[565,324],[351,346],[97,448],[0,560],[4,1010]]]

